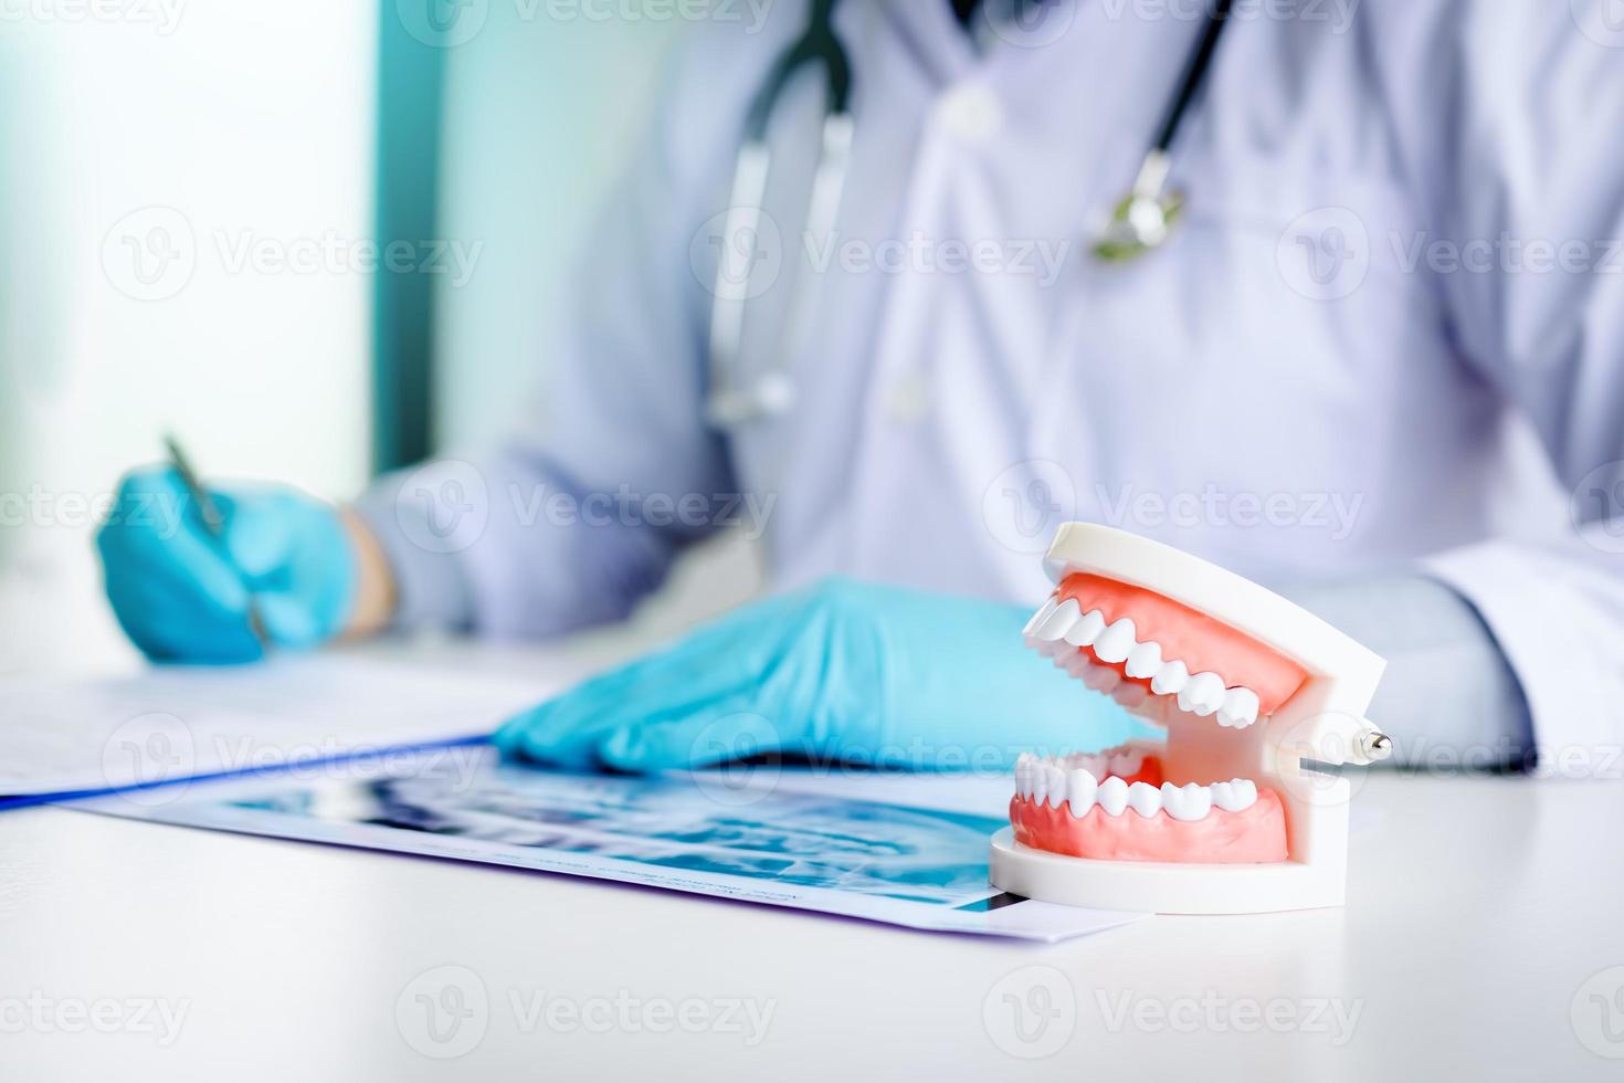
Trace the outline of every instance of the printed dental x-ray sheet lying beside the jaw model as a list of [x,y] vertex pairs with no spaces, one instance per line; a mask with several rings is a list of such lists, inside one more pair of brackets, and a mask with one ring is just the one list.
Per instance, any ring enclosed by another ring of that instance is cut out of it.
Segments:
[[[214,783],[78,807],[187,826],[453,857],[615,880],[911,929],[1054,942],[1137,921],[1004,895],[987,883],[987,841],[1004,826],[957,809],[874,800],[918,796],[908,776],[861,781],[810,771],[625,778],[536,771],[489,749],[411,771],[348,765],[343,778]],[[948,797],[955,779],[931,779]],[[986,804],[991,786],[970,804]],[[825,786],[831,783],[831,786]],[[997,779],[994,779],[997,783]],[[1007,792],[1009,781],[999,789]],[[960,787],[963,789],[963,787]],[[940,804],[940,802],[937,802]],[[960,799],[947,804],[965,804]]]

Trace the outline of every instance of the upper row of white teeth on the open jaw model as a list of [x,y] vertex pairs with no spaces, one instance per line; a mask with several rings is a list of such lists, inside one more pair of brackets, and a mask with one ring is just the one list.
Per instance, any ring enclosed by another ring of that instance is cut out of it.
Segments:
[[1257,693],[1246,687],[1224,687],[1223,677],[1212,671],[1190,674],[1177,659],[1163,659],[1161,645],[1155,640],[1140,641],[1132,617],[1119,617],[1106,623],[1098,609],[1083,612],[1075,599],[1060,601],[1054,594],[1026,622],[1026,636],[1038,643],[1069,643],[1091,648],[1103,662],[1124,662],[1129,677],[1148,677],[1156,695],[1176,695],[1179,710],[1190,714],[1218,714],[1220,726],[1246,729],[1257,721]]

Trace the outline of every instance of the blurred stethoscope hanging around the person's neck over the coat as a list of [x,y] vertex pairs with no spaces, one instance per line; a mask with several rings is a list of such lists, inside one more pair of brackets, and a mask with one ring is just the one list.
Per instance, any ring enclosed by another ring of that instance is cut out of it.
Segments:
[[[809,65],[823,68],[827,101],[822,143],[807,201],[806,235],[827,239],[840,214],[841,193],[851,167],[853,120],[851,58],[835,34],[835,3],[836,0],[812,0],[806,31],[773,63],[745,115],[744,141],[734,164],[732,192],[723,219],[711,289],[710,388],[705,412],[706,421],[716,429],[732,429],[749,421],[781,416],[796,399],[796,385],[788,367],[812,318],[817,283],[806,274],[796,276],[784,333],[771,362],[755,373],[754,380],[741,370],[744,312],[752,297],[762,205],[773,166],[767,128],[784,86]],[[1184,211],[1184,193],[1168,183],[1173,172],[1173,143],[1190,112],[1190,102],[1205,83],[1207,68],[1233,6],[1234,0],[1213,2],[1184,78],[1156,130],[1156,140],[1134,177],[1134,187],[1117,201],[1111,219],[1095,239],[1091,252],[1098,260],[1106,263],[1137,260],[1164,245],[1177,224]]]

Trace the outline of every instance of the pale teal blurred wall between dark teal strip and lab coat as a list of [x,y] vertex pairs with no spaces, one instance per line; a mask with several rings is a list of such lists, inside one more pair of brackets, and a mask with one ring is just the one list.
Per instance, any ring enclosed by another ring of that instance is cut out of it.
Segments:
[[[477,445],[542,378],[559,286],[658,91],[669,19],[495,2],[447,50],[440,229],[479,244],[464,286],[437,283],[437,442]],[[560,15],[575,11],[575,18]]]

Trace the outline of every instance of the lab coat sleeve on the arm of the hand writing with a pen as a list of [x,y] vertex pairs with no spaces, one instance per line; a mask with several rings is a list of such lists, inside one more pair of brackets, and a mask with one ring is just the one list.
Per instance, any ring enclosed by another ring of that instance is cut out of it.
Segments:
[[651,133],[601,201],[526,425],[357,502],[395,572],[398,623],[516,638],[612,620],[728,520],[736,485],[703,424],[708,294],[690,248],[724,201],[737,83],[770,47],[693,31],[674,49]]

